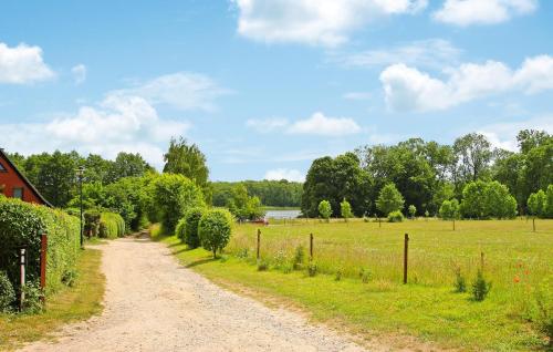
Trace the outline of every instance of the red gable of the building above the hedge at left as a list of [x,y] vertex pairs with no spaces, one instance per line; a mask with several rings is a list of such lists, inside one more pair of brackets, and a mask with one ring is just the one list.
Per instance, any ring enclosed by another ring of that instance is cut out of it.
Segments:
[[0,148],[0,194],[51,207],[29,179],[18,170],[2,148]]

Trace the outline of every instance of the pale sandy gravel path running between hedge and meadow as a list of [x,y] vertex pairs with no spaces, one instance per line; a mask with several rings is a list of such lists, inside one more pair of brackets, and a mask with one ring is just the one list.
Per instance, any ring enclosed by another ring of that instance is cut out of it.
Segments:
[[364,351],[296,313],[217,287],[161,244],[124,238],[98,248],[103,314],[24,351]]

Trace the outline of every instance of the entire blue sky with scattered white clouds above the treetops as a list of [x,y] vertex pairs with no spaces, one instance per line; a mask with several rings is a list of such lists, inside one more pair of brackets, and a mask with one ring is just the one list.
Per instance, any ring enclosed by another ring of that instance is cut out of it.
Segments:
[[2,0],[0,147],[303,180],[409,137],[553,132],[553,1]]

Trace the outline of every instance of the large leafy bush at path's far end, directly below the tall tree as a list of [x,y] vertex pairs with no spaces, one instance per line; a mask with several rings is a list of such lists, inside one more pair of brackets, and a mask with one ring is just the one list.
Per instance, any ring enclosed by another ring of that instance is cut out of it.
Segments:
[[165,234],[175,232],[187,209],[205,205],[201,189],[182,175],[159,175],[150,187],[152,208],[158,209]]

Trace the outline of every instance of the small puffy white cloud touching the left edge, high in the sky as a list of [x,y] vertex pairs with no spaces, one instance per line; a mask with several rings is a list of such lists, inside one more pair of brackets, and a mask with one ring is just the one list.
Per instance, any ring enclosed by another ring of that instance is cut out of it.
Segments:
[[21,43],[9,48],[0,43],[0,83],[25,84],[54,76],[54,72],[42,60],[40,46]]

